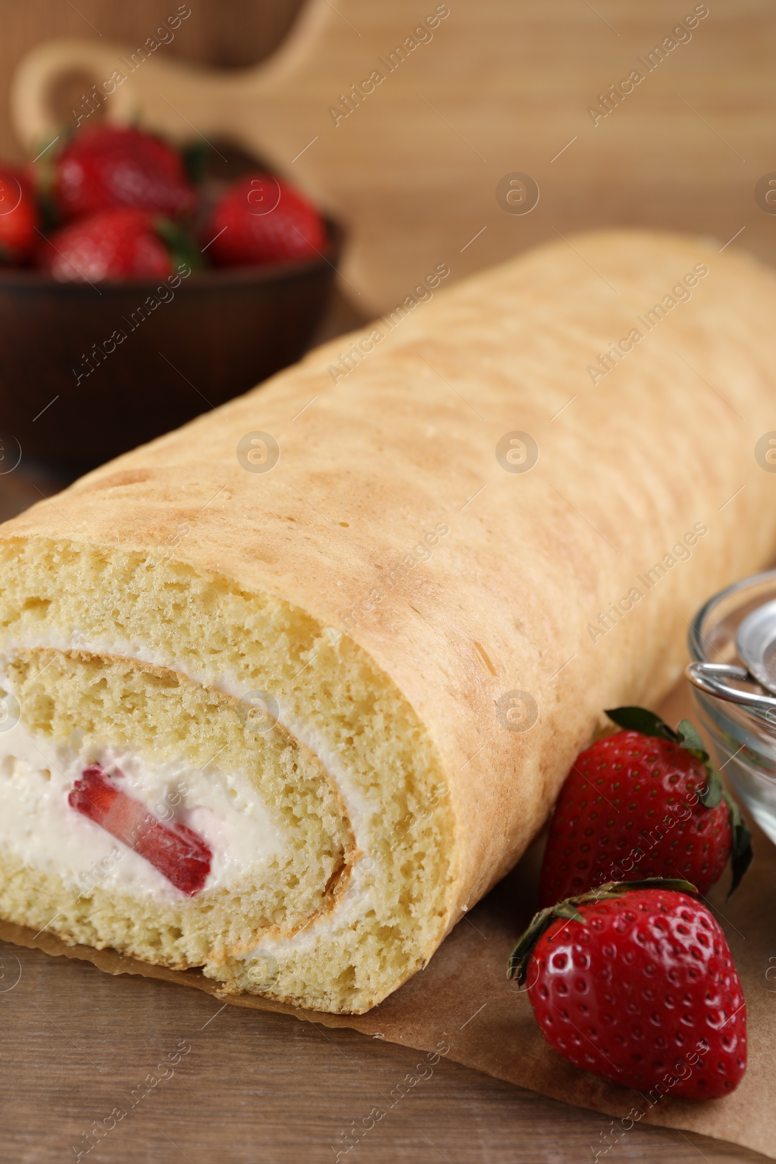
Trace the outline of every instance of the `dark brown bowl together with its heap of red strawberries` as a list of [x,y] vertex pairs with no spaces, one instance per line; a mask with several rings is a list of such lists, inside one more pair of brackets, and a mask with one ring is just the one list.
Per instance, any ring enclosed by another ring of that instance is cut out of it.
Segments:
[[137,127],[57,146],[31,177],[0,170],[0,411],[26,454],[80,473],[299,360],[342,234],[232,151],[236,183]]

